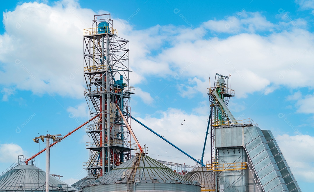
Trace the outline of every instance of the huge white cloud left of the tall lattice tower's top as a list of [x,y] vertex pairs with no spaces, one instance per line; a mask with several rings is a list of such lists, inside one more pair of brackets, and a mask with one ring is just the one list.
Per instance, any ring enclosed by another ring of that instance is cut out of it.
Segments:
[[0,83],[35,94],[83,97],[82,34],[91,15],[75,1],[23,3],[5,12]]

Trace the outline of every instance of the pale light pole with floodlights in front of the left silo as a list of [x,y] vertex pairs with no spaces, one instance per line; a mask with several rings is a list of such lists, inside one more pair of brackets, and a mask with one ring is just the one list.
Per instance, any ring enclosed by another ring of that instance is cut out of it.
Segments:
[[61,134],[57,134],[57,135],[46,134],[46,135],[41,135],[39,137],[35,137],[33,139],[35,143],[39,143],[39,140],[38,140],[39,138],[42,140],[42,142],[44,142],[46,138],[46,192],[49,192],[50,138],[52,138],[54,142],[60,142],[62,139],[64,139],[63,137],[58,137],[60,135]]

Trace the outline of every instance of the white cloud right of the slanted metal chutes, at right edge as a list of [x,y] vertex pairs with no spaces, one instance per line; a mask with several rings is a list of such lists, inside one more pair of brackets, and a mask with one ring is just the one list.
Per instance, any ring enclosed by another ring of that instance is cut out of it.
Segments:
[[[276,141],[288,162],[296,180],[314,182],[314,153],[311,149],[314,146],[314,137],[310,135],[287,134],[276,136]],[[298,158],[295,158],[295,157]]]

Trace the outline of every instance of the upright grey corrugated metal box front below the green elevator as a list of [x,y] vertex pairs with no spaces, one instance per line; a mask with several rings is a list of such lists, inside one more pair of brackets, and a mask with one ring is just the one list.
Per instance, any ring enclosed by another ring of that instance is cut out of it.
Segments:
[[220,147],[243,146],[243,127],[224,127],[215,129],[215,144]]

